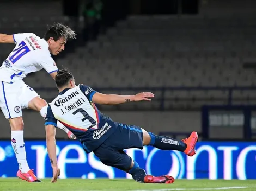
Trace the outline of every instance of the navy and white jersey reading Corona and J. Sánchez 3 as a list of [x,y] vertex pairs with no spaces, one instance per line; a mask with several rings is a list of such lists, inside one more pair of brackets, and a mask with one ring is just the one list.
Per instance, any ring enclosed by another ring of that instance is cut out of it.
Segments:
[[57,120],[79,138],[86,152],[98,148],[117,128],[117,122],[102,114],[92,102],[92,88],[78,85],[59,93],[47,109],[45,125]]

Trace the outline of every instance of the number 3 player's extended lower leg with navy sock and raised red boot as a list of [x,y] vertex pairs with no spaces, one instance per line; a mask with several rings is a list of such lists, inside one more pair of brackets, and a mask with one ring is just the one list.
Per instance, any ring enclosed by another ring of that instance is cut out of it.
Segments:
[[184,152],[188,156],[196,154],[194,150],[196,142],[198,141],[197,132],[192,132],[191,136],[177,141],[174,138],[168,136],[159,136],[154,133],[143,131],[143,145],[151,145],[161,150],[178,150]]

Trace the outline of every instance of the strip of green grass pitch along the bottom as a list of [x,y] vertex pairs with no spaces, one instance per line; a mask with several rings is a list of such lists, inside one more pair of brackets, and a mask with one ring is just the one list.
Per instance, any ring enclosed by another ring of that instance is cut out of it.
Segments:
[[186,191],[186,190],[230,190],[256,191],[256,180],[175,180],[172,184],[145,184],[127,179],[42,179],[44,183],[28,183],[17,178],[1,178],[0,190],[15,191],[82,191],[82,190],[130,190],[130,191]]

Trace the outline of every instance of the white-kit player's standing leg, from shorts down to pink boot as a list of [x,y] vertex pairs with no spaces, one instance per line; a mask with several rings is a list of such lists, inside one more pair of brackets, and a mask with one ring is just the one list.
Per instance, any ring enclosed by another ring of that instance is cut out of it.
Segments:
[[0,107],[11,126],[11,145],[19,164],[17,176],[23,177],[28,182],[33,182],[37,179],[28,167],[23,138],[22,101],[27,96],[26,91],[22,89],[23,86],[22,80],[17,80],[13,84],[0,82]]

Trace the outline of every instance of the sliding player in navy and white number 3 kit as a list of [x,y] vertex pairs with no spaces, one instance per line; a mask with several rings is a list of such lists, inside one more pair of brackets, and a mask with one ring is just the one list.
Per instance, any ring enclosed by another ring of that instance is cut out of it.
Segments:
[[56,182],[60,173],[56,155],[57,121],[66,126],[79,139],[87,153],[94,152],[100,161],[132,175],[138,182],[173,183],[169,175],[152,176],[145,174],[138,163],[123,150],[129,148],[143,149],[144,145],[152,145],[161,150],[178,150],[188,156],[196,154],[197,132],[190,137],[176,141],[167,136],[159,136],[147,132],[135,125],[114,122],[101,113],[96,104],[122,104],[130,101],[148,100],[153,93],[142,92],[136,95],[102,94],[92,88],[80,84],[75,85],[73,75],[66,69],[59,70],[55,78],[59,95],[49,104],[45,118],[45,131],[48,156],[53,168],[51,182]]

